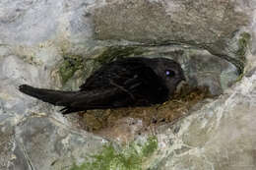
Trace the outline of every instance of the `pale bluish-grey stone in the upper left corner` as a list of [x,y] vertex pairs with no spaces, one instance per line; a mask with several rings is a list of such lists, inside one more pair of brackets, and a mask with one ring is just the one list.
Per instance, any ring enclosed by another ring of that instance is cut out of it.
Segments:
[[84,39],[90,36],[90,25],[84,15],[92,2],[1,1],[0,43],[32,45],[53,39],[64,40],[69,33],[76,35],[77,40]]

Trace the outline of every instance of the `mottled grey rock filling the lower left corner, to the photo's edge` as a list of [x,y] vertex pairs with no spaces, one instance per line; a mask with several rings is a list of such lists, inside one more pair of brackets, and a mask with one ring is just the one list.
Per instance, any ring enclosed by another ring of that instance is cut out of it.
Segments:
[[70,169],[105,140],[37,114],[1,125],[1,169]]

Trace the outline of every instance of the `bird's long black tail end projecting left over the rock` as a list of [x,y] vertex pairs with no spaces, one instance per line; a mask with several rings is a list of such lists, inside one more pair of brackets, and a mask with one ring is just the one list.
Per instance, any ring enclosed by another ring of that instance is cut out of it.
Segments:
[[74,100],[76,91],[61,91],[45,88],[36,88],[31,85],[20,85],[19,90],[23,93],[31,95],[44,102],[48,102],[57,106],[69,106],[70,102]]

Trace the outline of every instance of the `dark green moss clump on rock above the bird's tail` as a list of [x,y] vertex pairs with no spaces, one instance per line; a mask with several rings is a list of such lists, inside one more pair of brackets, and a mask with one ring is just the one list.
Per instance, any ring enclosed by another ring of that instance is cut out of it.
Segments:
[[59,74],[62,84],[65,85],[74,76],[76,71],[83,69],[84,65],[82,56],[66,55],[63,56],[63,59],[59,67]]

